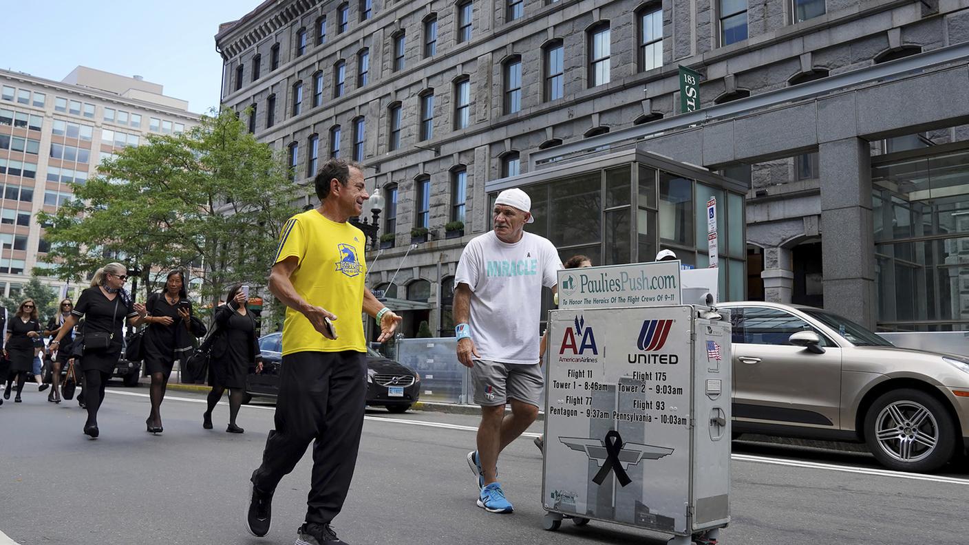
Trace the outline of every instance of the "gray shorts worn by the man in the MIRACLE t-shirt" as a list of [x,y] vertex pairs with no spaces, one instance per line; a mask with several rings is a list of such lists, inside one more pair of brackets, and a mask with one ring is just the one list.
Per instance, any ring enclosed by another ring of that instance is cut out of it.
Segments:
[[471,380],[475,384],[475,402],[482,406],[503,405],[517,400],[539,406],[545,375],[539,364],[503,364],[475,360]]

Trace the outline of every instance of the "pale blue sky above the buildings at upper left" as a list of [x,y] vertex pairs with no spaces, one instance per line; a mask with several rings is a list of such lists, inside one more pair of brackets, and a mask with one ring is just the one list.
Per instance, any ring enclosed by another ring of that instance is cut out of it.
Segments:
[[0,0],[0,68],[55,81],[78,65],[139,75],[207,112],[219,104],[219,24],[261,1]]

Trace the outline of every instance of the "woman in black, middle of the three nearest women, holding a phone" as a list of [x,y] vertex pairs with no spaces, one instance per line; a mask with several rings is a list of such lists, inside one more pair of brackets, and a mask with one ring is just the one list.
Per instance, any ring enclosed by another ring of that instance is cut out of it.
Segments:
[[[144,422],[148,433],[162,433],[162,401],[169,384],[175,360],[184,362],[194,349],[195,337],[204,331],[195,330],[192,304],[185,293],[185,274],[169,272],[165,291],[152,294],[144,305],[148,328],[144,332],[144,369],[151,376],[151,413]],[[198,322],[201,324],[201,322]]]

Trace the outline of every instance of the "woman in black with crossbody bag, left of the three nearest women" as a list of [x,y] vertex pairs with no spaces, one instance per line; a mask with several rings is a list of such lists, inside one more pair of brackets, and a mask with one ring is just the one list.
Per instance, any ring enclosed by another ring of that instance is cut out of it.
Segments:
[[[98,409],[105,400],[105,385],[121,357],[125,318],[132,326],[141,324],[147,314],[144,305],[133,303],[124,290],[128,270],[120,263],[109,263],[91,279],[91,287],[80,292],[78,305],[71,317],[64,321],[57,336],[50,341],[51,349],[59,349],[67,333],[74,328],[81,316],[84,325],[75,343],[81,343],[80,369],[84,372],[84,402],[87,404],[87,422],[84,433],[92,439],[98,430]],[[73,351],[78,353],[78,346]]]

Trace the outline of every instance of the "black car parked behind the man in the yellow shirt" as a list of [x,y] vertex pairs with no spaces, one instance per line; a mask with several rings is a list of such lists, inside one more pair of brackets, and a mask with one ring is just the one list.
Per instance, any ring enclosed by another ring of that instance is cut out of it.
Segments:
[[[259,339],[263,354],[263,372],[254,370],[246,377],[246,402],[252,396],[276,397],[279,392],[279,368],[282,365],[281,333]],[[391,412],[404,412],[421,396],[421,375],[414,369],[385,358],[367,348],[366,404],[387,407]]]

